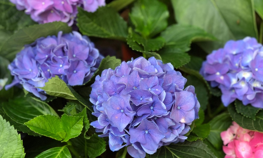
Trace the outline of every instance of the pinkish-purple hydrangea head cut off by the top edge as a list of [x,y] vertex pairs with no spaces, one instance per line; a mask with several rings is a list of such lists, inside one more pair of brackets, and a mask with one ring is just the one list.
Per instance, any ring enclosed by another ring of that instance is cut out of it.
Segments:
[[62,21],[71,26],[78,13],[77,7],[95,12],[105,5],[105,0],[10,0],[18,10],[25,10],[31,18],[40,23]]

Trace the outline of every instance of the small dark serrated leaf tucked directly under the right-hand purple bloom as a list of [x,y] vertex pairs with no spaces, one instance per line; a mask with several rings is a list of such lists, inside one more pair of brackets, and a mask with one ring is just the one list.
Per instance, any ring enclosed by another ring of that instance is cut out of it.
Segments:
[[235,110],[237,113],[242,114],[243,116],[253,119],[255,121],[257,113],[262,109],[255,108],[250,104],[245,106],[241,101],[235,100]]

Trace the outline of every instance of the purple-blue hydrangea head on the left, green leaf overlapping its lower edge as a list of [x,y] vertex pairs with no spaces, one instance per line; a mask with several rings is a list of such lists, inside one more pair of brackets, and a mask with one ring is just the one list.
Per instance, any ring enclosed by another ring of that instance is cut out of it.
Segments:
[[14,80],[5,89],[21,84],[46,100],[44,90],[37,87],[44,87],[49,78],[57,75],[71,86],[82,85],[92,77],[102,58],[94,43],[78,32],[60,31],[58,36],[41,37],[25,46],[8,65]]

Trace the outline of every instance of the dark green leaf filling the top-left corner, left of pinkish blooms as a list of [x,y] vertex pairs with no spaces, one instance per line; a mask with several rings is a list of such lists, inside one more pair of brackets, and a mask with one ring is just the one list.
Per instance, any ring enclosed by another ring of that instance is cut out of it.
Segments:
[[14,31],[25,26],[36,24],[24,11],[17,10],[15,4],[9,0],[0,0],[0,11],[0,25],[2,25],[5,30]]

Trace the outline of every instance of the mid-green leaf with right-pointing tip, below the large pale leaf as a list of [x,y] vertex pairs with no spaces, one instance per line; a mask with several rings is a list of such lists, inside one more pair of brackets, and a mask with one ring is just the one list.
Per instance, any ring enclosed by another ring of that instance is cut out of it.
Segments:
[[174,24],[161,33],[166,41],[166,46],[173,45],[182,51],[189,51],[192,41],[216,40],[216,37],[206,33],[204,30],[191,25]]

